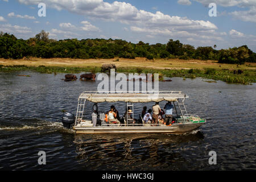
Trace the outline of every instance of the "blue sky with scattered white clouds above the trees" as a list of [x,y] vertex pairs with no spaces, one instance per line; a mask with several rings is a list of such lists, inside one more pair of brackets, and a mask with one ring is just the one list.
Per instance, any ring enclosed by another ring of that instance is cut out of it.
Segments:
[[[39,3],[46,16],[38,15]],[[210,3],[217,16],[209,16]],[[217,49],[247,45],[256,52],[256,0],[0,0],[0,31],[28,39],[41,30],[56,40],[173,39]]]

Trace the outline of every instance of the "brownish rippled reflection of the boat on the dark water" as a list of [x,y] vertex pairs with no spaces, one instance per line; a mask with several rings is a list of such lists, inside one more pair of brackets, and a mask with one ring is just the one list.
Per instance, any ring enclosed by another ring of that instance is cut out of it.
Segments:
[[[179,144],[203,138],[200,131],[184,135],[96,134],[76,135],[74,143],[79,163],[89,164],[90,169],[164,169],[185,161],[174,151]],[[101,168],[102,165],[109,168]]]

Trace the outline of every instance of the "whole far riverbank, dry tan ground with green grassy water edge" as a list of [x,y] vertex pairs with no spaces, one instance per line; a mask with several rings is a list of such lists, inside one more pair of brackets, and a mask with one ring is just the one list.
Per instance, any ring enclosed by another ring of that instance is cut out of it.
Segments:
[[[160,80],[166,77],[196,78],[203,77],[222,80],[228,83],[250,84],[256,82],[256,64],[237,65],[218,64],[217,61],[201,60],[146,60],[137,59],[0,59],[0,72],[35,71],[40,73],[80,73],[101,72],[101,65],[113,63],[117,72],[125,73],[159,73]],[[241,69],[241,75],[233,71]]]

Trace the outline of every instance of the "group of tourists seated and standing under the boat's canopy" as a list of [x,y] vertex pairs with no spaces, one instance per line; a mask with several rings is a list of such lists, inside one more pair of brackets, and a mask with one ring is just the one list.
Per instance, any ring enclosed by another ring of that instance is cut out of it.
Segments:
[[[148,109],[144,106],[141,116],[143,121],[146,124],[156,125],[156,124],[163,124],[167,126],[171,126],[172,124],[172,109],[174,109],[174,106],[171,104],[170,101],[166,103],[164,106],[164,112],[163,109],[160,108],[159,102],[155,102],[155,105],[152,106],[152,109]],[[133,124],[137,123],[137,119],[134,119],[132,117],[133,111],[130,109],[130,107],[127,108],[125,112],[124,121],[126,121],[126,124]],[[152,113],[152,115],[151,115]],[[164,117],[163,117],[164,115]],[[124,123],[122,119],[119,117],[119,112],[117,109],[115,109],[115,106],[110,106],[110,110],[105,114],[105,121],[110,124],[117,124],[118,126],[121,123]]]

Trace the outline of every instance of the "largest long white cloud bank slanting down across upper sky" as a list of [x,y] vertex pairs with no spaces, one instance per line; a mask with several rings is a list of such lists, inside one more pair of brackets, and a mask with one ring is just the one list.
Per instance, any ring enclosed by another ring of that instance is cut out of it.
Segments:
[[[20,3],[26,5],[36,5],[39,0],[18,0]],[[126,2],[114,1],[113,3],[104,2],[103,0],[82,0],[82,1],[64,1],[55,0],[44,1],[48,7],[53,7],[57,10],[65,9],[72,13],[88,15],[91,18],[100,18],[113,22],[121,22],[126,24],[139,24],[145,27],[166,27],[178,26],[182,29],[217,29],[217,27],[204,20],[191,20],[188,18],[181,18],[179,16],[170,16],[156,11],[151,13],[149,11],[138,10],[135,6]],[[86,29],[86,28],[85,28]]]

